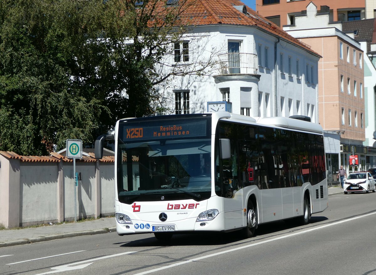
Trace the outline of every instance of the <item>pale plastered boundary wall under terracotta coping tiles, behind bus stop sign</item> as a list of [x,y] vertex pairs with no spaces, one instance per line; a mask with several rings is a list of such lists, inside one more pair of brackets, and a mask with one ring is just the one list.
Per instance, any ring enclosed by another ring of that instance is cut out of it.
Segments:
[[77,161],[82,180],[74,185],[73,162],[7,158],[0,154],[0,224],[6,228],[114,214],[114,163]]

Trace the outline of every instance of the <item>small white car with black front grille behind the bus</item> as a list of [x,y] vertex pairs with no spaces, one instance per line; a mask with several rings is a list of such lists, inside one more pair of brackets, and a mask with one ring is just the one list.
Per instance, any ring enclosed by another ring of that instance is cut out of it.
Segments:
[[370,190],[372,190],[372,192],[376,192],[376,186],[374,184],[373,177],[366,171],[350,173],[343,183],[343,192],[345,194],[347,194],[347,192],[369,193]]

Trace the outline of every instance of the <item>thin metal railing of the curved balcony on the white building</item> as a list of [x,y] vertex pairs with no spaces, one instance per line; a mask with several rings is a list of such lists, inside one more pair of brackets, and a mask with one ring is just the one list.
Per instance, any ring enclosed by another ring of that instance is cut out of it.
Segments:
[[220,75],[257,74],[258,59],[256,54],[226,53],[218,55]]

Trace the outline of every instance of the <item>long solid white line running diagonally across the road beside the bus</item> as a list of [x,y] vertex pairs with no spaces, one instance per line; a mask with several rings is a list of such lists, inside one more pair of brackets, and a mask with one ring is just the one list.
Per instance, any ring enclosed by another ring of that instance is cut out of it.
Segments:
[[315,228],[311,228],[311,229],[307,229],[307,230],[304,230],[304,231],[288,234],[288,235],[281,236],[281,237],[276,237],[274,239],[264,240],[264,241],[261,241],[261,242],[258,242],[258,243],[252,243],[250,245],[245,245],[245,246],[241,246],[241,247],[238,247],[238,248],[228,249],[228,250],[225,250],[225,251],[205,255],[205,256],[194,258],[194,259],[191,259],[191,260],[181,261],[179,263],[170,264],[169,266],[158,267],[158,268],[151,269],[151,270],[148,270],[148,271],[144,271],[144,272],[141,272],[141,273],[137,273],[137,274],[134,274],[134,275],[144,275],[144,274],[153,273],[153,272],[156,272],[156,271],[159,271],[159,270],[163,270],[163,269],[167,269],[167,268],[171,268],[171,267],[175,267],[175,266],[180,266],[182,264],[191,263],[193,261],[199,261],[199,260],[202,260],[202,259],[205,259],[205,258],[210,258],[210,257],[214,257],[214,256],[221,255],[221,254],[226,254],[226,253],[237,251],[237,250],[240,250],[240,249],[249,248],[249,247],[255,246],[255,245],[261,245],[261,244],[267,243],[267,242],[273,242],[275,240],[285,239],[285,238],[288,238],[288,237],[308,233],[308,232],[319,230],[319,229],[329,227],[329,226],[332,226],[332,225],[337,225],[337,224],[341,224],[343,222],[353,221],[354,219],[360,219],[360,218],[364,218],[364,217],[367,217],[367,216],[370,216],[370,215],[375,215],[375,214],[376,214],[376,212],[371,212],[371,213],[368,213],[368,214],[365,214],[365,215],[362,215],[362,216],[358,216],[358,217],[354,217],[354,218],[350,218],[350,219],[345,219],[345,220],[338,221],[338,222],[333,222],[331,224],[325,224],[325,225],[315,227]]

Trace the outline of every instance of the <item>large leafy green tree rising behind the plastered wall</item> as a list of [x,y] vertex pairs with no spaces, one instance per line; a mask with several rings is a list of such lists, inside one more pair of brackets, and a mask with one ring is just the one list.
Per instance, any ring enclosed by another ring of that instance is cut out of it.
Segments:
[[43,155],[67,138],[91,144],[117,119],[154,114],[156,85],[209,66],[158,71],[194,1],[0,2],[0,150]]

